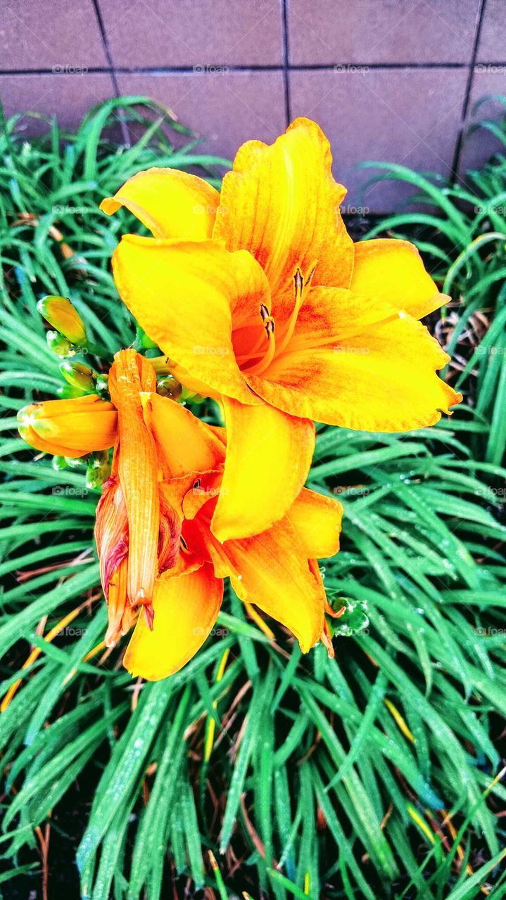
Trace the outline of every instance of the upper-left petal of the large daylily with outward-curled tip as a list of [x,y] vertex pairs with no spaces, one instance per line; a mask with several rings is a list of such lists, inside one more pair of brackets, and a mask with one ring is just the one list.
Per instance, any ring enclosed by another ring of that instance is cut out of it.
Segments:
[[155,238],[211,238],[220,194],[196,175],[171,168],[150,168],[132,175],[100,209],[113,215],[125,206]]

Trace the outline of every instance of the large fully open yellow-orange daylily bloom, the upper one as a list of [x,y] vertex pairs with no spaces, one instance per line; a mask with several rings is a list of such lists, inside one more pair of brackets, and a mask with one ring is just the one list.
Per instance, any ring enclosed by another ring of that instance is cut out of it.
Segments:
[[407,241],[352,242],[330,164],[319,126],[298,119],[272,146],[241,147],[221,194],[154,168],[101,205],[127,207],[153,235],[125,235],[113,254],[123,302],[176,378],[222,401],[221,541],[291,508],[312,419],[405,431],[462,399],[438,378],[449,357],[419,321],[447,297]]

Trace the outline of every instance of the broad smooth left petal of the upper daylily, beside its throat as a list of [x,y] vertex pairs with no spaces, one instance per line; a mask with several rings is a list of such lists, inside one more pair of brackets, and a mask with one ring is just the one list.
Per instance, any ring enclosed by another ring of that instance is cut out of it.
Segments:
[[[231,343],[231,311],[269,302],[266,276],[245,251],[217,241],[127,235],[113,254],[123,302],[163,352],[210,389],[255,403]],[[259,313],[258,313],[259,315]]]

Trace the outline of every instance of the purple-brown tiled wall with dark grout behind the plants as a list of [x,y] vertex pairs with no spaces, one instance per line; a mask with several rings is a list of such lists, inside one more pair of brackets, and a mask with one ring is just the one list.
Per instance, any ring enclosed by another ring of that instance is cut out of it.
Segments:
[[[99,100],[149,94],[230,157],[299,115],[334,148],[349,206],[386,211],[383,159],[462,174],[495,149],[462,143],[483,94],[506,94],[506,0],[2,0],[7,114],[74,125]],[[499,115],[499,103],[486,112]],[[25,120],[27,132],[37,128]],[[40,125],[39,125],[40,127]]]

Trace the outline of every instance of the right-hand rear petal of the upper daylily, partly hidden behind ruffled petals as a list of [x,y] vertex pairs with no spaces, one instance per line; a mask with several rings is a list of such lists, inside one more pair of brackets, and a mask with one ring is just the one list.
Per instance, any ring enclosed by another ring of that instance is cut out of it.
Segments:
[[391,303],[421,319],[449,301],[426,272],[417,248],[407,240],[364,240],[355,245],[354,293]]

